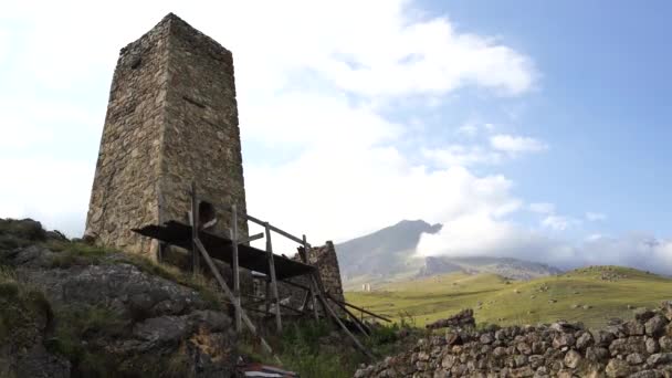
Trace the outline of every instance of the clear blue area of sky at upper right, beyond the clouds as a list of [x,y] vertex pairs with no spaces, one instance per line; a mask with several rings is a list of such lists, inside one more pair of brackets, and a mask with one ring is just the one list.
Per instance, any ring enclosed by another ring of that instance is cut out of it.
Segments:
[[605,231],[672,234],[668,2],[423,4],[463,29],[500,35],[542,72],[522,125],[553,149],[503,167],[521,196],[552,198],[575,214],[602,209]]

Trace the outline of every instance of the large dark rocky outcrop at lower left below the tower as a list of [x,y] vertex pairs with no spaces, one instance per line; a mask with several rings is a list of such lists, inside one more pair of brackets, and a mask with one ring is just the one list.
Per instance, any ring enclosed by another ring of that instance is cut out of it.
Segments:
[[0,244],[0,376],[234,372],[231,319],[204,284],[138,256],[54,242],[36,222],[18,234],[21,222],[0,220],[0,240],[12,241]]

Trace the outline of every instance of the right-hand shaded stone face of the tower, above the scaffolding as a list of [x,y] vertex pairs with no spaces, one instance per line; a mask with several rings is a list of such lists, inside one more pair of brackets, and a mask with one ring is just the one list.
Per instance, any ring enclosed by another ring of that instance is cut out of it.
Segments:
[[[161,193],[162,219],[183,219],[190,210],[187,189],[245,212],[245,189],[231,52],[181,20],[168,40]],[[217,204],[216,203],[216,204]],[[218,212],[218,228],[229,228],[229,212]],[[246,237],[246,221],[239,231]]]

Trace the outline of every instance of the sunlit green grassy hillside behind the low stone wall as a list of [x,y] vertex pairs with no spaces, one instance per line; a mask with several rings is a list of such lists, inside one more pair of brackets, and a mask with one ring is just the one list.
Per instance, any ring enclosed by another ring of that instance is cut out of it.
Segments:
[[477,323],[536,324],[563,318],[601,326],[631,309],[672,298],[672,280],[619,266],[592,266],[532,281],[453,273],[389,283],[370,293],[348,292],[356,305],[418,326],[472,307]]

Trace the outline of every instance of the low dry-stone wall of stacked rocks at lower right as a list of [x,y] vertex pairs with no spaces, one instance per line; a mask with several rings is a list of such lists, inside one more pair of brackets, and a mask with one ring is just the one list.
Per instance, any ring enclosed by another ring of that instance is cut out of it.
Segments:
[[422,338],[365,377],[672,377],[672,302],[605,329],[557,322]]

